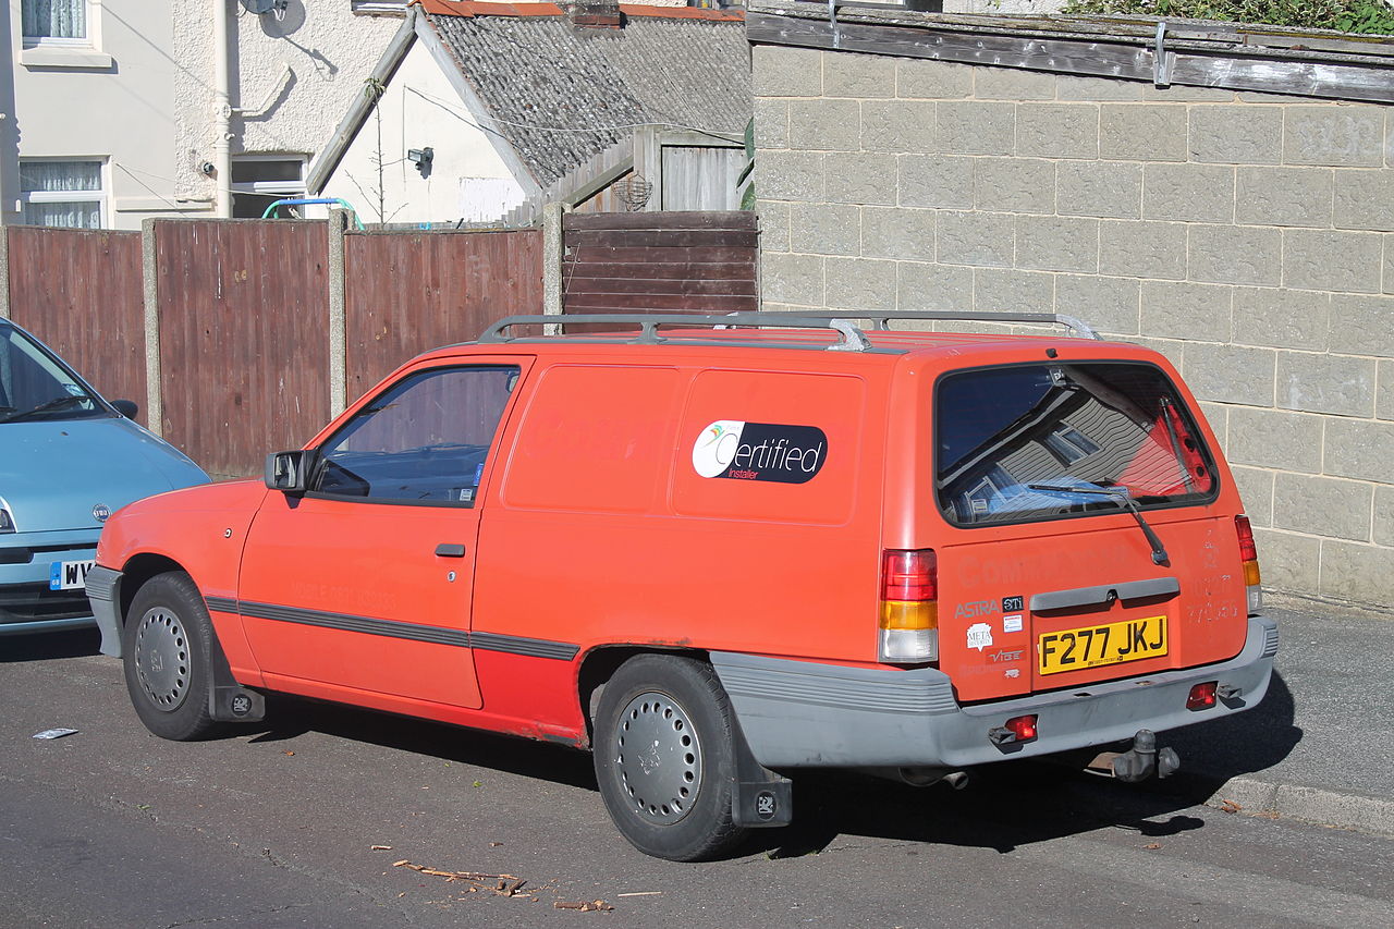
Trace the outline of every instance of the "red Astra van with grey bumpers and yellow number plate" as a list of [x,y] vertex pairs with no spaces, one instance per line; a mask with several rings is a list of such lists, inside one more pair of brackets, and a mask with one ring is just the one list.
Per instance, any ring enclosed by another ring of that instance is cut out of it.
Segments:
[[[1263,699],[1253,536],[1165,358],[846,315],[429,352],[265,481],[113,516],[102,650],[171,739],[276,690],[588,748],[625,837],[680,861],[788,823],[800,769],[1117,748],[1140,780],[1178,763],[1156,732]],[[577,321],[618,331],[526,335]]]

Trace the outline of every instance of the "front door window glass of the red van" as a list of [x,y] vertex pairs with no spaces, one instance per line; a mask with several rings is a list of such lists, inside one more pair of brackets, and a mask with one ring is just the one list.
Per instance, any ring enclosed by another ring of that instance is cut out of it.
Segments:
[[407,375],[321,446],[309,492],[473,506],[517,377],[513,365]]

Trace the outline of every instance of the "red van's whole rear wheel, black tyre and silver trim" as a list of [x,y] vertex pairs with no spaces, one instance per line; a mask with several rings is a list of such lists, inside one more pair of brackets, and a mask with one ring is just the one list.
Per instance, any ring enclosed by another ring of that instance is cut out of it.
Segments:
[[615,826],[669,861],[730,851],[736,774],[730,700],[711,665],[666,654],[630,658],[601,693],[595,778]]

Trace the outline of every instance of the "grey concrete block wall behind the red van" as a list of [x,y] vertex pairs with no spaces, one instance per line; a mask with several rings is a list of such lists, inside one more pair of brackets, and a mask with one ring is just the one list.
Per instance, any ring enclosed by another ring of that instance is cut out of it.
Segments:
[[767,310],[1032,310],[1167,354],[1269,586],[1394,603],[1394,107],[754,47]]

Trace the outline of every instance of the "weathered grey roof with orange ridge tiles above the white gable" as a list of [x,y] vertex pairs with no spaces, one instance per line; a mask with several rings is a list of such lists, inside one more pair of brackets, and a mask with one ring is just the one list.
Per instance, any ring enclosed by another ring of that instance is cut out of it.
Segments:
[[666,10],[625,4],[623,28],[579,29],[553,4],[422,3],[493,128],[541,187],[636,126],[744,130],[751,92],[742,18]]

